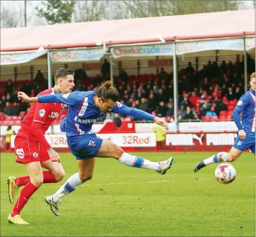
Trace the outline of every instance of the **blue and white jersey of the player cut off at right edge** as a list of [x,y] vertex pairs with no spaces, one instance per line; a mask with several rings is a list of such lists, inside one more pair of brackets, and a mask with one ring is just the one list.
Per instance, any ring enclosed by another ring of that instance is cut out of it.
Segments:
[[245,132],[255,132],[255,92],[249,89],[237,102],[235,110],[242,113],[242,127]]

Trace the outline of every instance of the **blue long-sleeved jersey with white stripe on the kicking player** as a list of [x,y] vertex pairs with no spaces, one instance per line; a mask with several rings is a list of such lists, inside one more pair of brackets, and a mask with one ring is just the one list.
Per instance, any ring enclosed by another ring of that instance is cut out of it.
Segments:
[[[38,101],[40,103],[59,102],[69,105],[67,116],[61,123],[61,131],[66,132],[67,137],[73,137],[94,133],[92,131],[93,123],[104,114],[94,105],[93,96],[96,94],[95,90],[90,92],[75,91],[67,94],[38,96]],[[129,108],[120,102],[117,102],[111,112],[152,121],[155,117],[144,111]]]

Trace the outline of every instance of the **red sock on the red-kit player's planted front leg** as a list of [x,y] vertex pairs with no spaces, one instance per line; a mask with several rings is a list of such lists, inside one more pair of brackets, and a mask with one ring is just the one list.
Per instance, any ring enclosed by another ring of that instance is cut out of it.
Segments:
[[13,211],[11,211],[11,217],[14,217],[15,215],[20,215],[21,210],[28,202],[29,198],[33,195],[35,191],[38,190],[38,187],[34,186],[31,181],[28,181],[28,183],[23,187],[23,189],[20,192],[20,196],[17,199]]

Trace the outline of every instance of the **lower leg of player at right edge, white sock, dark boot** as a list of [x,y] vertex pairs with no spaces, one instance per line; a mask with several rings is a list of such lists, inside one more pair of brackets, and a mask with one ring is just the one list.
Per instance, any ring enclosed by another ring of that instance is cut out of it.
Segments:
[[194,172],[198,172],[199,169],[204,168],[207,165],[210,165],[211,163],[219,163],[219,162],[233,162],[235,161],[241,154],[243,153],[243,151],[238,150],[234,147],[232,147],[229,151],[229,153],[227,152],[219,152],[207,159],[204,159],[200,162],[197,163],[197,165],[195,165],[194,167]]

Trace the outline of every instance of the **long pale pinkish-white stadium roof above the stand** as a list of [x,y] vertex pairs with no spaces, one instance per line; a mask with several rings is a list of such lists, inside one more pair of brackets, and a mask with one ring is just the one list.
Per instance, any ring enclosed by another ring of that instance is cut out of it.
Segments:
[[[255,35],[255,10],[104,20],[1,29],[1,51],[93,47]],[[98,44],[97,44],[98,42]]]

